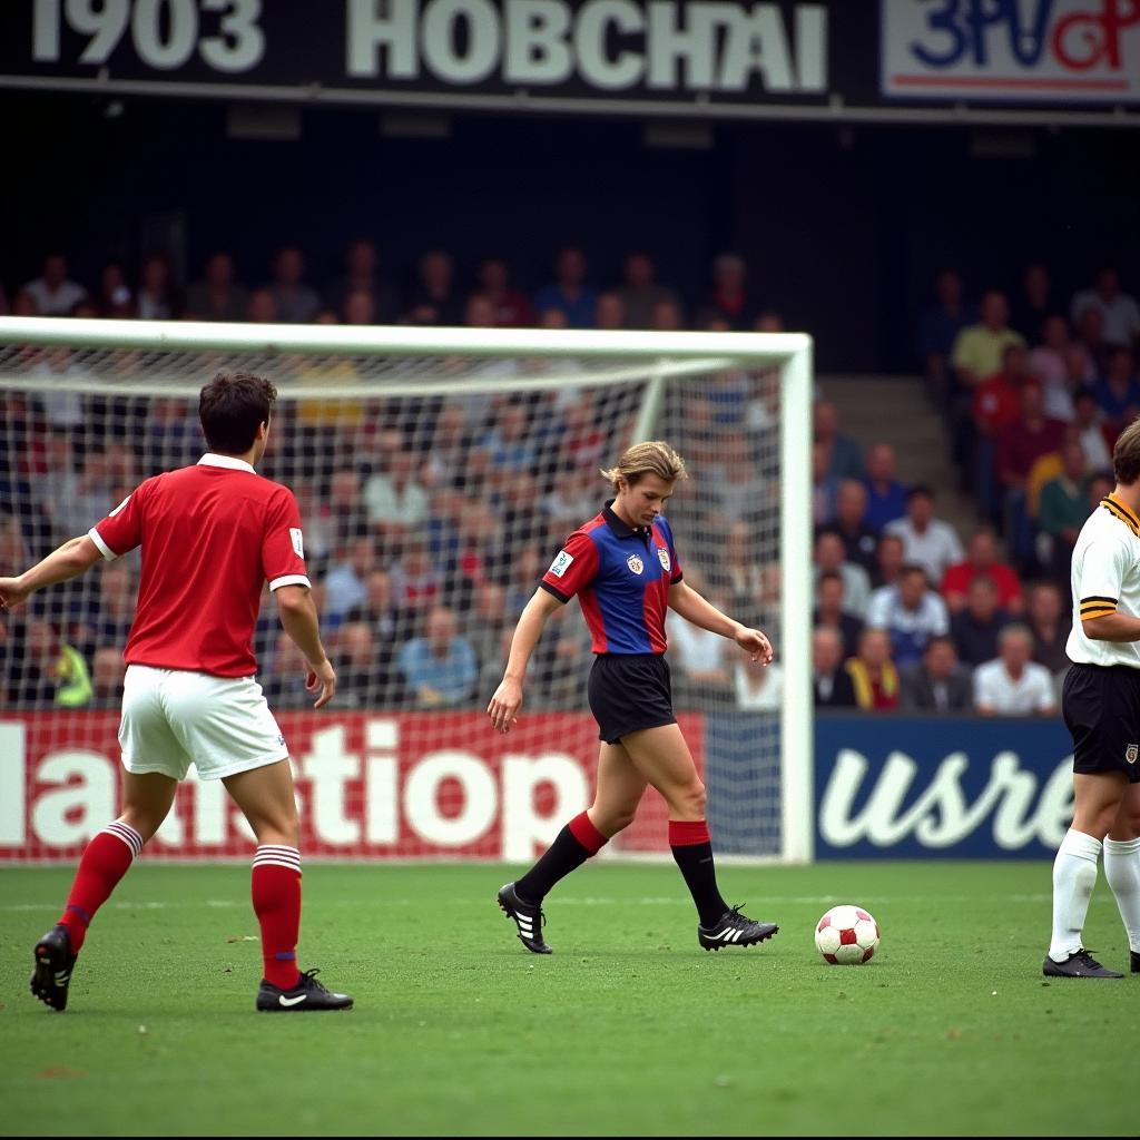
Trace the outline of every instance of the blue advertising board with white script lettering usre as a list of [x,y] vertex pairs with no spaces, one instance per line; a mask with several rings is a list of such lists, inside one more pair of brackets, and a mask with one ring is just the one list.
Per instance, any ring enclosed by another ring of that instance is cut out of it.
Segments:
[[821,858],[1052,857],[1073,817],[1059,719],[817,717]]

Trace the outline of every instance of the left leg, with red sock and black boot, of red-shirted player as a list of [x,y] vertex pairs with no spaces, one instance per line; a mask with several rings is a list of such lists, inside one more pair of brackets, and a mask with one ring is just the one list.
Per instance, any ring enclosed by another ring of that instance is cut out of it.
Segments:
[[51,1009],[67,1005],[75,959],[96,911],[130,870],[142,845],[166,819],[178,782],[156,772],[123,772],[123,811],[88,845],[59,921],[35,944],[32,993]]

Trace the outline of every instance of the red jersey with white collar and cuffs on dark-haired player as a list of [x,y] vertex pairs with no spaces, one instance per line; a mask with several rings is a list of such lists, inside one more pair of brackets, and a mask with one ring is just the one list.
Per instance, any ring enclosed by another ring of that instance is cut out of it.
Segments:
[[309,585],[293,492],[228,455],[146,480],[88,534],[108,560],[142,547],[128,665],[250,677],[263,584]]

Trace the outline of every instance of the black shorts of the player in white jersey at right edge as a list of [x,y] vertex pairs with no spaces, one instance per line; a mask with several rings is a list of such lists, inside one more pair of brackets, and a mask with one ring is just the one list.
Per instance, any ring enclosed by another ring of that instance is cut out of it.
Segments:
[[1074,772],[1123,772],[1140,783],[1140,669],[1074,665],[1061,686],[1061,712],[1073,733]]

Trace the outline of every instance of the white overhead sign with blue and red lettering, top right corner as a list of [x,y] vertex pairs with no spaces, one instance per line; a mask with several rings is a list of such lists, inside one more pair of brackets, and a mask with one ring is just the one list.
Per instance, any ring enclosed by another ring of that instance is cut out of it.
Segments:
[[1140,103],[1140,5],[882,0],[880,11],[886,96]]

